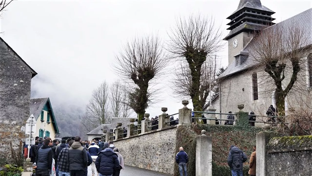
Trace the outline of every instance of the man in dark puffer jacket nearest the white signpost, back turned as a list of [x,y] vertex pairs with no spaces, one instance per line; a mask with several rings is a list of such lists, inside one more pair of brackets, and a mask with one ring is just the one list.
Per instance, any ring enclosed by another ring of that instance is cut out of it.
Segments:
[[42,147],[37,152],[36,156],[37,176],[50,176],[50,170],[52,168],[52,159],[53,159],[52,149],[49,147],[50,144],[52,144],[52,140],[45,139],[43,141]]

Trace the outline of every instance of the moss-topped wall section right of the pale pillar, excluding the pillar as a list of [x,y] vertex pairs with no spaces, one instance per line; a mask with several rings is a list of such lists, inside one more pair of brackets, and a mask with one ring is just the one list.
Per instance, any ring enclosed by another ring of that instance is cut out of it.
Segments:
[[266,154],[266,175],[312,174],[312,136],[275,137]]

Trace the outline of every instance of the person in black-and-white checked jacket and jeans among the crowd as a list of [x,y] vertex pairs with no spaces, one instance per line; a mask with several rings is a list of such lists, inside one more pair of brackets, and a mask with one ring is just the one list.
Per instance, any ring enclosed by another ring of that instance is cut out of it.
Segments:
[[69,162],[67,161],[68,151],[74,140],[68,142],[68,147],[63,148],[57,158],[58,176],[71,176],[69,171]]

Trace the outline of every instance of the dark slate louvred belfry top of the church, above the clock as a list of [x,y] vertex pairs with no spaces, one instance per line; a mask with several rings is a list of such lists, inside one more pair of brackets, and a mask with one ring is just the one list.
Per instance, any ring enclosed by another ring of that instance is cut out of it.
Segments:
[[231,30],[224,38],[228,40],[241,32],[258,31],[275,23],[271,15],[275,12],[261,4],[260,0],[240,0],[238,7],[227,19],[231,21],[227,24]]

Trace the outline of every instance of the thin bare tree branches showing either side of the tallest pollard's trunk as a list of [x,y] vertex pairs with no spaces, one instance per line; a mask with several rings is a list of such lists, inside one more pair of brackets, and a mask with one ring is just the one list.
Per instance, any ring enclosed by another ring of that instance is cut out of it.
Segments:
[[[213,57],[207,57],[206,61],[201,66],[201,76],[199,82],[199,102],[203,109],[210,100],[210,96],[214,95],[216,87],[218,85],[216,81],[219,62]],[[193,81],[191,69],[186,61],[182,61],[180,67],[175,69],[176,76],[173,80],[173,92],[174,94],[183,99],[191,98],[191,94],[195,92],[193,90]],[[211,87],[210,87],[211,86]],[[210,92],[211,91],[211,92]]]

